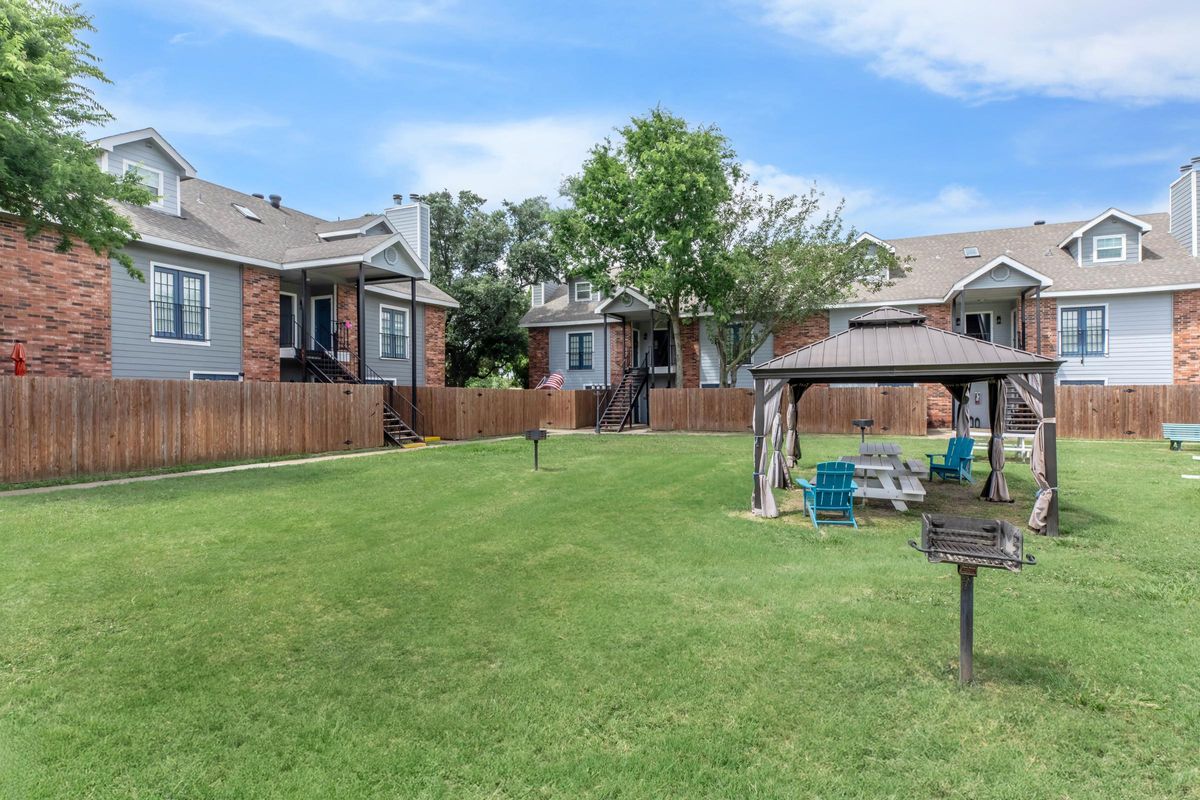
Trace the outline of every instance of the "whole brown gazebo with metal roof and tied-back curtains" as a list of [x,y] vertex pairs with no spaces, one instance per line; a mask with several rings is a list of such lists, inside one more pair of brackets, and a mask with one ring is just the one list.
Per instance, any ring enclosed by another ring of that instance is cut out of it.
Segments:
[[[988,383],[991,471],[982,497],[1009,501],[1004,481],[1004,392],[1008,381],[1038,419],[1030,465],[1038,485],[1030,528],[1058,534],[1058,465],[1055,447],[1055,374],[1062,361],[1016,348],[953,333],[925,324],[923,314],[877,308],[850,320],[850,327],[828,338],[750,367],[754,377],[754,499],[761,517],[778,517],[772,487],[790,483],[780,405],[791,387],[787,409],[787,455],[796,456],[796,404],[814,384],[942,384],[954,398],[955,434],[970,435],[966,404],[971,384]],[[770,440],[768,443],[768,434]]]

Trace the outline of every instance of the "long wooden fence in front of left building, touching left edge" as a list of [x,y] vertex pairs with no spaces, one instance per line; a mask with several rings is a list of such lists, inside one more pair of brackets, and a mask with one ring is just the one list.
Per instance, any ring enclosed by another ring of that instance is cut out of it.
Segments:
[[383,391],[0,377],[0,482],[378,447]]

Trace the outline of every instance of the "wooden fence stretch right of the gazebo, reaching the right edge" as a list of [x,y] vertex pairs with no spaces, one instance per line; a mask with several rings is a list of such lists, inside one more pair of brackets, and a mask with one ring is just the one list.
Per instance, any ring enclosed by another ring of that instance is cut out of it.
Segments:
[[1058,435],[1160,439],[1163,422],[1200,422],[1200,385],[1058,386]]

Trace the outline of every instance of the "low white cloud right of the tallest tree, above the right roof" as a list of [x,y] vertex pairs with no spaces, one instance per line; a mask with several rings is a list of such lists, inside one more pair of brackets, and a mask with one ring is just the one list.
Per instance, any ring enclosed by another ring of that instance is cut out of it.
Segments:
[[989,200],[974,187],[958,184],[943,186],[931,194],[912,196],[847,185],[827,178],[793,175],[772,164],[752,161],[746,162],[745,167],[764,191],[776,196],[803,194],[816,186],[824,196],[823,207],[832,209],[844,200],[842,219],[847,225],[886,239],[1027,225],[1034,219],[1085,219],[1103,210],[1070,204],[1001,205]]

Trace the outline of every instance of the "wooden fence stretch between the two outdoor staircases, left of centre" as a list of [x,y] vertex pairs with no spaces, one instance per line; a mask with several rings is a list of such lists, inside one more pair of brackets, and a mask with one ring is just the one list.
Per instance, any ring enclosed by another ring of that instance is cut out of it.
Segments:
[[[397,391],[407,397],[409,390]],[[478,439],[511,435],[529,428],[575,429],[595,425],[595,395],[582,390],[419,386],[416,403],[424,432],[443,439]]]

